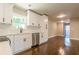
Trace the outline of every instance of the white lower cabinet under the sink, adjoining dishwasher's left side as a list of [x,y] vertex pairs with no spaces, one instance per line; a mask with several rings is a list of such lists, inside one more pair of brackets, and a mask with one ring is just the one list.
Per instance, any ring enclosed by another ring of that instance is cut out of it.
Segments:
[[15,53],[22,52],[31,48],[32,46],[32,36],[31,34],[22,34],[15,36],[14,47]]

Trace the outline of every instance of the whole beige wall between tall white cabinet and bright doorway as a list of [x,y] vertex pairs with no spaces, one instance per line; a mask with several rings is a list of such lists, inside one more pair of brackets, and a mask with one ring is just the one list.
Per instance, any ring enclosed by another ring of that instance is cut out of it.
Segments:
[[[59,19],[58,19],[59,20]],[[63,23],[49,17],[48,19],[48,37],[64,36]]]

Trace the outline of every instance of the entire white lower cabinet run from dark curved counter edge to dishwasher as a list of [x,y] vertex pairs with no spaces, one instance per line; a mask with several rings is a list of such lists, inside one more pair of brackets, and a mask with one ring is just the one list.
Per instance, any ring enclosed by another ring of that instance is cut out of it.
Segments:
[[27,50],[32,46],[32,34],[18,34],[7,37],[11,41],[11,50],[13,54]]

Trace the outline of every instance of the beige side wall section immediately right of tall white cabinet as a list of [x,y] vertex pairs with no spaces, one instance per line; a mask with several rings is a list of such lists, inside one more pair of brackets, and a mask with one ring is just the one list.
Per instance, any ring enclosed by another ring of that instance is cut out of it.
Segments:
[[54,37],[56,36],[56,31],[57,31],[57,23],[53,19],[49,18],[48,19],[48,37]]

